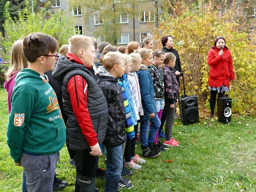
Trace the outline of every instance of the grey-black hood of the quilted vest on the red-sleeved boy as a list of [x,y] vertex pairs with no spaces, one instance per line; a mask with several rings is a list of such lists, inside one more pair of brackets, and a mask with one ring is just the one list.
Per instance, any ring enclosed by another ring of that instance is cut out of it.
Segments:
[[83,64],[74,63],[72,61],[76,60],[74,60],[74,58],[68,60],[68,58],[66,58],[65,56],[60,55],[58,62],[52,71],[53,78],[57,81],[62,82],[62,79],[67,72],[74,69],[81,69],[83,71],[87,69],[86,66],[84,66]]

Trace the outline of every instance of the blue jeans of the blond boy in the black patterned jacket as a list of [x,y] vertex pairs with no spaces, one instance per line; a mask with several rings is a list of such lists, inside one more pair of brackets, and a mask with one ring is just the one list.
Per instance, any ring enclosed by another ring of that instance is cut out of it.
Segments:
[[108,147],[105,176],[105,192],[117,192],[118,184],[123,170],[122,145]]

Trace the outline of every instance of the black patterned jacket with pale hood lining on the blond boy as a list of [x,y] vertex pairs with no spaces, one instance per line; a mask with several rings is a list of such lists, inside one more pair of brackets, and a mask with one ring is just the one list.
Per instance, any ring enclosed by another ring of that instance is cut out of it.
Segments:
[[97,82],[108,103],[108,127],[104,144],[109,147],[121,145],[126,140],[126,114],[122,90],[118,79],[103,66],[97,69]]

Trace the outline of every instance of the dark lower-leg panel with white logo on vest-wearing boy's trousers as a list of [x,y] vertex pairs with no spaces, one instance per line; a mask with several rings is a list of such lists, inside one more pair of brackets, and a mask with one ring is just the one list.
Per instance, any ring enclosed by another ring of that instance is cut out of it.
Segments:
[[85,177],[76,172],[75,192],[88,192],[95,190],[95,178]]

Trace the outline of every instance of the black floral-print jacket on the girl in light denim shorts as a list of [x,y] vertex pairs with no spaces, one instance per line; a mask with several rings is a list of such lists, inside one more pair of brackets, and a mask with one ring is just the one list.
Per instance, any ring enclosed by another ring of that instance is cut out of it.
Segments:
[[148,69],[154,83],[154,93],[156,100],[164,99],[164,77],[160,66],[151,65]]

